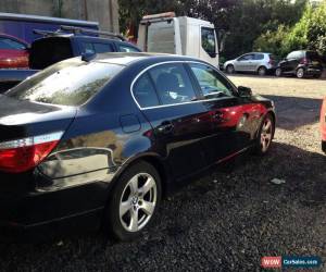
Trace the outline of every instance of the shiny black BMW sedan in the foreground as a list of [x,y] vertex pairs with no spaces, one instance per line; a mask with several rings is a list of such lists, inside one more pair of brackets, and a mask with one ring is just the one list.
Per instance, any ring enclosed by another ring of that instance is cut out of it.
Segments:
[[172,185],[268,151],[274,104],[186,57],[54,64],[0,96],[0,233],[137,237]]

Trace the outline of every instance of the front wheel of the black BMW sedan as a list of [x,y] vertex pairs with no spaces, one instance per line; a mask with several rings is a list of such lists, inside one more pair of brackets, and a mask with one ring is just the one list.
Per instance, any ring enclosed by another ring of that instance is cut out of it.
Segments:
[[258,143],[255,146],[256,154],[265,154],[268,152],[275,133],[275,121],[271,113],[267,113],[261,124]]

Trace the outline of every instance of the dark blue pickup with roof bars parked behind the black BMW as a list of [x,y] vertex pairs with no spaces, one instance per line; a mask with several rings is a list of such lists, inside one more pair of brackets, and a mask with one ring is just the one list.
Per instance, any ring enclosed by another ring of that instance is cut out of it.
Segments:
[[110,36],[110,38],[96,37],[87,34],[102,34],[103,32],[70,28],[76,29],[79,34],[85,35],[45,32],[43,34],[46,36],[43,38],[37,39],[30,45],[29,69],[0,70],[0,94],[17,85],[39,70],[46,69],[51,64],[68,58],[85,53],[140,51],[133,44],[122,40],[122,37],[120,36]]

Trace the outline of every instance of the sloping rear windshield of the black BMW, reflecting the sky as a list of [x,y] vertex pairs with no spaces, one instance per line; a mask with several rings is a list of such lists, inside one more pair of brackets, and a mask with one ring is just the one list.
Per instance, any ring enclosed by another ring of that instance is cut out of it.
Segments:
[[72,59],[37,73],[5,95],[18,100],[80,106],[93,97],[122,69],[123,66],[116,64]]

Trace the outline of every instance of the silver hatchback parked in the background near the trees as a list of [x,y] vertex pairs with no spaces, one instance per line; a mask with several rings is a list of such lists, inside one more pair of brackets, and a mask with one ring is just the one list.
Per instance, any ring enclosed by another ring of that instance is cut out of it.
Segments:
[[252,52],[240,55],[237,59],[226,61],[224,71],[228,74],[235,72],[252,72],[265,75],[275,69],[275,58],[271,53]]

